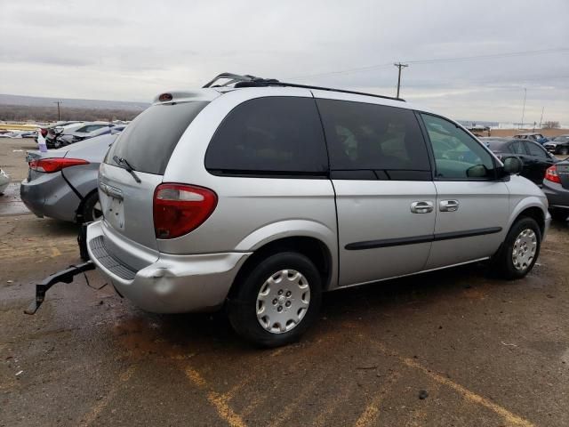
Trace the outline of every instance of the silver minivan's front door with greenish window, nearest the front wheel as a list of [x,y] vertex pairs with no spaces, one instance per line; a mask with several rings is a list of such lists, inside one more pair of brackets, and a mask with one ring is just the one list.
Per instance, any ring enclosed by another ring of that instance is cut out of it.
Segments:
[[508,230],[509,190],[493,156],[460,126],[421,114],[435,157],[437,220],[426,269],[492,256]]

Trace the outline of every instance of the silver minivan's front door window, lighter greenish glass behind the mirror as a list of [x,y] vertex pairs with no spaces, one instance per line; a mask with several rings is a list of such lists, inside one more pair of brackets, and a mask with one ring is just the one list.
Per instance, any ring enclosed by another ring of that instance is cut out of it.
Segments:
[[437,165],[437,179],[493,178],[493,158],[461,127],[441,117],[421,113]]

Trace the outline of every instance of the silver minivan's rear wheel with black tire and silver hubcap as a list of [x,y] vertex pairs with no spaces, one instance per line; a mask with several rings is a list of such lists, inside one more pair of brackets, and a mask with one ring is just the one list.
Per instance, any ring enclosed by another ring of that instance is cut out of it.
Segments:
[[308,257],[293,252],[268,256],[248,270],[228,299],[236,333],[262,347],[297,341],[317,319],[322,278]]

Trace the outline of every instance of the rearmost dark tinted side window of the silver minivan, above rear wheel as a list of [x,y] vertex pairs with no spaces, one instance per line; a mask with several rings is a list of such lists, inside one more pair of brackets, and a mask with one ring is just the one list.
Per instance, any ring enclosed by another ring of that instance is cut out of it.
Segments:
[[211,173],[324,175],[328,157],[312,98],[266,97],[233,109],[205,153]]

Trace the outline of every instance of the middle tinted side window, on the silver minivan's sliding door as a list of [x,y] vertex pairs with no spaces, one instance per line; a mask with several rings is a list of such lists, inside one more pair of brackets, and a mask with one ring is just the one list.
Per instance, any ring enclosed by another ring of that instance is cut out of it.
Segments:
[[317,105],[332,170],[384,171],[388,175],[389,171],[430,171],[427,147],[413,111],[322,99]]

